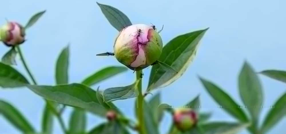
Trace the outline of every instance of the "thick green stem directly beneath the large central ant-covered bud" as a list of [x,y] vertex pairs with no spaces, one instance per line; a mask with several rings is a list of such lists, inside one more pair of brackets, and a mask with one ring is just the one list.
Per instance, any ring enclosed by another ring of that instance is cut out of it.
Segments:
[[143,101],[144,101],[144,97],[142,95],[142,70],[140,71],[136,71],[136,81],[138,81],[138,91],[139,91],[139,95],[137,97],[137,103],[138,103],[138,107],[137,107],[137,111],[138,111],[138,122],[139,122],[139,133],[140,134],[146,134],[145,132],[145,127],[144,127],[144,107],[143,107]]

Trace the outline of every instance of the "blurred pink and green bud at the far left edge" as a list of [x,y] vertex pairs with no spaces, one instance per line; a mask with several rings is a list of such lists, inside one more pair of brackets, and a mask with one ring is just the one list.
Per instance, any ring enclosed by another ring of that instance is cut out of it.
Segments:
[[1,41],[7,46],[15,46],[25,41],[25,29],[16,22],[8,22],[0,29]]

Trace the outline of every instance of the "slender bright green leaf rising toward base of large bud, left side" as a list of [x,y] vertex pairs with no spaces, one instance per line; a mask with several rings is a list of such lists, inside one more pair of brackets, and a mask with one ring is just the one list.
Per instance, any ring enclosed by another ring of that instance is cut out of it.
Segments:
[[94,73],[90,77],[86,78],[84,81],[82,81],[82,83],[84,85],[92,86],[96,83],[99,83],[100,81],[108,79],[114,75],[117,75],[117,74],[122,73],[122,72],[127,71],[127,70],[128,69],[126,67],[116,67],[116,66],[106,67],[106,68]]

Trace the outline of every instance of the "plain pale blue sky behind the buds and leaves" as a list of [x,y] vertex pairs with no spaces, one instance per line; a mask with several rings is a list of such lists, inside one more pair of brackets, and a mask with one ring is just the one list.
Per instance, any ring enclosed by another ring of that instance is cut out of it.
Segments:
[[[180,106],[200,94],[202,111],[213,112],[213,121],[235,121],[225,113],[206,93],[197,76],[209,79],[242,105],[237,90],[237,77],[245,60],[256,71],[264,69],[286,70],[285,58],[285,5],[284,0],[192,0],[192,1],[112,1],[99,0],[99,3],[114,6],[124,12],[133,24],[153,23],[157,27],[164,24],[160,33],[163,43],[172,38],[198,29],[210,29],[202,39],[197,56],[186,73],[172,85],[160,89],[162,102]],[[55,60],[61,49],[70,45],[70,82],[80,82],[90,73],[106,66],[120,65],[112,57],[96,57],[97,53],[112,51],[118,31],[102,14],[94,0],[6,0],[1,1],[0,23],[5,18],[25,24],[34,13],[46,9],[43,17],[27,31],[27,41],[22,45],[26,60],[41,85],[54,85]],[[8,50],[0,46],[0,54]],[[16,68],[23,72],[17,58]],[[144,70],[143,85],[146,88],[150,68]],[[133,71],[113,77],[98,85],[102,89],[125,86],[134,80]],[[261,120],[286,90],[286,85],[259,76],[264,89],[264,107]],[[94,88],[98,85],[95,85]],[[37,130],[40,130],[41,113],[44,101],[26,88],[0,91],[0,99],[18,107]],[[128,116],[134,118],[134,99],[115,102]],[[67,109],[64,117],[69,117]],[[103,120],[88,115],[88,129]],[[163,119],[161,132],[170,125],[170,115]],[[286,120],[281,121],[270,133],[285,131]],[[55,133],[61,133],[55,124]],[[3,117],[0,117],[0,133],[20,133]],[[242,131],[241,134],[246,134]]]

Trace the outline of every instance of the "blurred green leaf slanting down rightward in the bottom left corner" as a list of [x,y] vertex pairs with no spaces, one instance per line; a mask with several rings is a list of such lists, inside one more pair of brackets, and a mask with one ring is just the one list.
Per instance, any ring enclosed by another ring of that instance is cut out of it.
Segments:
[[0,100],[0,115],[3,115],[12,125],[23,133],[34,132],[33,127],[25,117],[12,105]]

